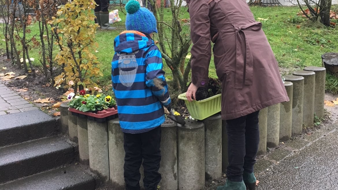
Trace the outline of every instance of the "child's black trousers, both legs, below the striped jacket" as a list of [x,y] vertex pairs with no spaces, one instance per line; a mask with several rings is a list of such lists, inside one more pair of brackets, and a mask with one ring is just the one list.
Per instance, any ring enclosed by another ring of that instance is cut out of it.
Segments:
[[161,126],[139,134],[123,133],[124,137],[124,181],[127,190],[140,189],[140,166],[143,159],[146,190],[156,190],[161,181],[158,172],[161,161]]

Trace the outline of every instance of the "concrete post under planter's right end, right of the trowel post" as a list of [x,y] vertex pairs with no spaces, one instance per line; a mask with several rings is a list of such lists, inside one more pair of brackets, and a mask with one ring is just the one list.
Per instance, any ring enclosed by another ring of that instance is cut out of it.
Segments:
[[215,114],[204,120],[206,181],[222,177],[222,119]]

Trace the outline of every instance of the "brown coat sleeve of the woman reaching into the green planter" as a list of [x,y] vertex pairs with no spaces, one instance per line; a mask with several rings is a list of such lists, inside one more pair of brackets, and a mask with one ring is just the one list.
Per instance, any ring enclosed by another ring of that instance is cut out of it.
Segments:
[[209,83],[211,59],[211,35],[209,6],[205,0],[191,1],[189,4],[191,47],[191,81],[197,87]]

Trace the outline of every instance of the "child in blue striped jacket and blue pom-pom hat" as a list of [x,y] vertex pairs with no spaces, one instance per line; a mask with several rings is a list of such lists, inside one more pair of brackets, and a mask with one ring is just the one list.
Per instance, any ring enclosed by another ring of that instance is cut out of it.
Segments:
[[127,31],[115,38],[112,61],[113,91],[124,135],[124,180],[126,189],[140,189],[143,159],[144,188],[156,190],[161,181],[163,106],[171,110],[171,99],[161,52],[151,39],[158,32],[154,15],[135,0],[128,1],[125,9]]

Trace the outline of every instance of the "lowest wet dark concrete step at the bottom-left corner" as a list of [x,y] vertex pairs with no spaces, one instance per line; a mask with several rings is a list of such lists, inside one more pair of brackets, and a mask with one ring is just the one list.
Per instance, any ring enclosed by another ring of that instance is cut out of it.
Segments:
[[78,165],[38,173],[0,185],[0,190],[94,190],[94,175]]

